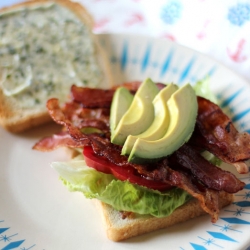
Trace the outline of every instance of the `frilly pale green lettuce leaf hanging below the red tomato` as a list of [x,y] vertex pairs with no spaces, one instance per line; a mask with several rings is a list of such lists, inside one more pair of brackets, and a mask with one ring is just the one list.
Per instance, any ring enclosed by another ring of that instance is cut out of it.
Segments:
[[99,199],[119,211],[165,217],[191,198],[187,192],[178,188],[159,192],[117,180],[113,175],[89,168],[80,159],[54,162],[52,167],[70,191],[82,192],[86,198]]

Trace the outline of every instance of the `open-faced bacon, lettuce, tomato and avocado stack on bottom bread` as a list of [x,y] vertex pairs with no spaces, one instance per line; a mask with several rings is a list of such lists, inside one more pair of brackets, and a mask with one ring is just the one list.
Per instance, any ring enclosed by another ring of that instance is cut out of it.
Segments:
[[66,103],[47,101],[62,130],[33,149],[74,153],[52,167],[70,191],[96,201],[113,241],[204,214],[214,223],[245,186],[220,164],[247,173],[250,135],[199,95],[202,85],[151,79],[106,90],[72,85]]

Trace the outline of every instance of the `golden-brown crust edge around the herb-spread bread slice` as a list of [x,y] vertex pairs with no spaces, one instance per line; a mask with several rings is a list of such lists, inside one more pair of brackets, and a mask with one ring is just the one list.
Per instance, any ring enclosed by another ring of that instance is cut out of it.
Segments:
[[[57,3],[60,4],[71,11],[73,11],[77,17],[82,20],[82,22],[91,31],[94,26],[94,20],[88,11],[79,3],[71,2],[68,0],[32,0],[22,3],[12,5],[10,7],[5,7],[0,10],[0,13],[6,13],[8,11],[13,11],[15,9],[20,9],[23,7],[32,7],[40,4],[46,3]],[[113,76],[111,73],[111,67],[108,57],[103,51],[101,45],[98,42],[97,37],[90,32],[91,40],[95,44],[96,55],[99,67],[105,74],[105,80],[103,86],[100,88],[110,88],[114,85]],[[23,110],[16,102],[13,102],[11,98],[5,96],[3,90],[0,86],[0,125],[3,126],[10,132],[19,133],[28,130],[32,127],[44,124],[51,121],[46,106],[39,109]]]

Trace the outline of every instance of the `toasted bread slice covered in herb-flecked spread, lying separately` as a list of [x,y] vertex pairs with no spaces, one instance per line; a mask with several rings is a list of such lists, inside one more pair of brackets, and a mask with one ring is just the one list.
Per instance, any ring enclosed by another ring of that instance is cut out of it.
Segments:
[[0,125],[7,130],[21,132],[50,121],[46,101],[56,97],[65,102],[72,84],[113,86],[109,60],[82,5],[28,1],[3,8],[0,19],[5,35],[0,46]]

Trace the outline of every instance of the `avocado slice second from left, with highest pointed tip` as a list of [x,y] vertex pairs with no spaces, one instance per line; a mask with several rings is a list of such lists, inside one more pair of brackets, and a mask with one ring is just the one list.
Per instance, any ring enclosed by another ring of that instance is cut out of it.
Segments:
[[111,133],[112,143],[123,145],[128,135],[138,135],[151,125],[154,120],[152,101],[158,93],[159,89],[151,79],[141,84],[129,109]]

